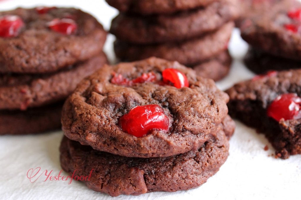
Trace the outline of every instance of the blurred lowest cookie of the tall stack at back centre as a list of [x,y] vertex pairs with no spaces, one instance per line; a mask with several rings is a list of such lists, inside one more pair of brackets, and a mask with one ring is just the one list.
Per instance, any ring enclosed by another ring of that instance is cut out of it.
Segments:
[[199,65],[192,66],[196,71],[197,76],[211,78],[214,81],[221,80],[228,75],[230,71],[232,58],[227,51],[223,51],[215,58],[200,63]]

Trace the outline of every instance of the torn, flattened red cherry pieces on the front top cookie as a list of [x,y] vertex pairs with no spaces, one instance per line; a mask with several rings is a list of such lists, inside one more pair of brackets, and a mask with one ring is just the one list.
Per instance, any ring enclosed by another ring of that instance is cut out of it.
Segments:
[[129,80],[121,74],[114,74],[113,78],[111,79],[111,83],[116,85],[124,85],[124,86],[132,86],[135,83],[146,83],[146,82],[154,82],[157,80],[157,77],[154,72],[143,73],[138,78],[133,80]]

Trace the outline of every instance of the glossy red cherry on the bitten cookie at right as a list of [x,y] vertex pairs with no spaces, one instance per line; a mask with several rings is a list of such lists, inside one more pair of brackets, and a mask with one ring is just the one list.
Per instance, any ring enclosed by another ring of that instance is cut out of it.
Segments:
[[278,96],[268,107],[267,115],[280,121],[300,118],[301,98],[294,93]]

